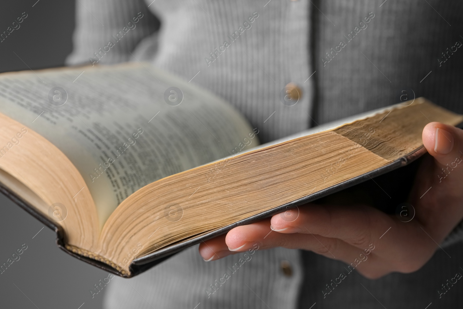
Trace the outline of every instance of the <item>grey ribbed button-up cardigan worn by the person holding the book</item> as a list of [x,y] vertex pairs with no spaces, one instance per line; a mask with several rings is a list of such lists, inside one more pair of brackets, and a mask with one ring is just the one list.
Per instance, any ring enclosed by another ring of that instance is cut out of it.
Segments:
[[[263,142],[404,95],[425,96],[463,113],[463,50],[456,43],[463,42],[462,1],[80,0],[76,9],[69,64],[149,61],[193,78],[237,107],[262,132]],[[99,53],[108,41],[114,46]],[[302,92],[294,106],[280,101],[290,82]],[[413,274],[369,281],[347,273],[341,284],[330,285],[329,294],[322,292],[326,284],[347,272],[338,261],[276,248],[206,263],[194,247],[138,277],[115,279],[105,305],[461,308],[461,287],[440,298],[438,290],[463,273],[462,235],[457,227],[445,252],[438,250]],[[225,272],[230,278],[222,284]]]

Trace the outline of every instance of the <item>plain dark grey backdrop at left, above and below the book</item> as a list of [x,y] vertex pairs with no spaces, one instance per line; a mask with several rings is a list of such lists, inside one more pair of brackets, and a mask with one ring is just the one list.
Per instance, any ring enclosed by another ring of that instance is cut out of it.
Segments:
[[[1,72],[62,66],[71,52],[75,1],[36,2],[2,1],[0,33],[23,12],[28,16],[0,43]],[[1,308],[101,308],[102,293],[92,299],[89,290],[105,271],[58,249],[53,231],[1,194],[0,209],[0,265],[27,245],[0,274]]]

